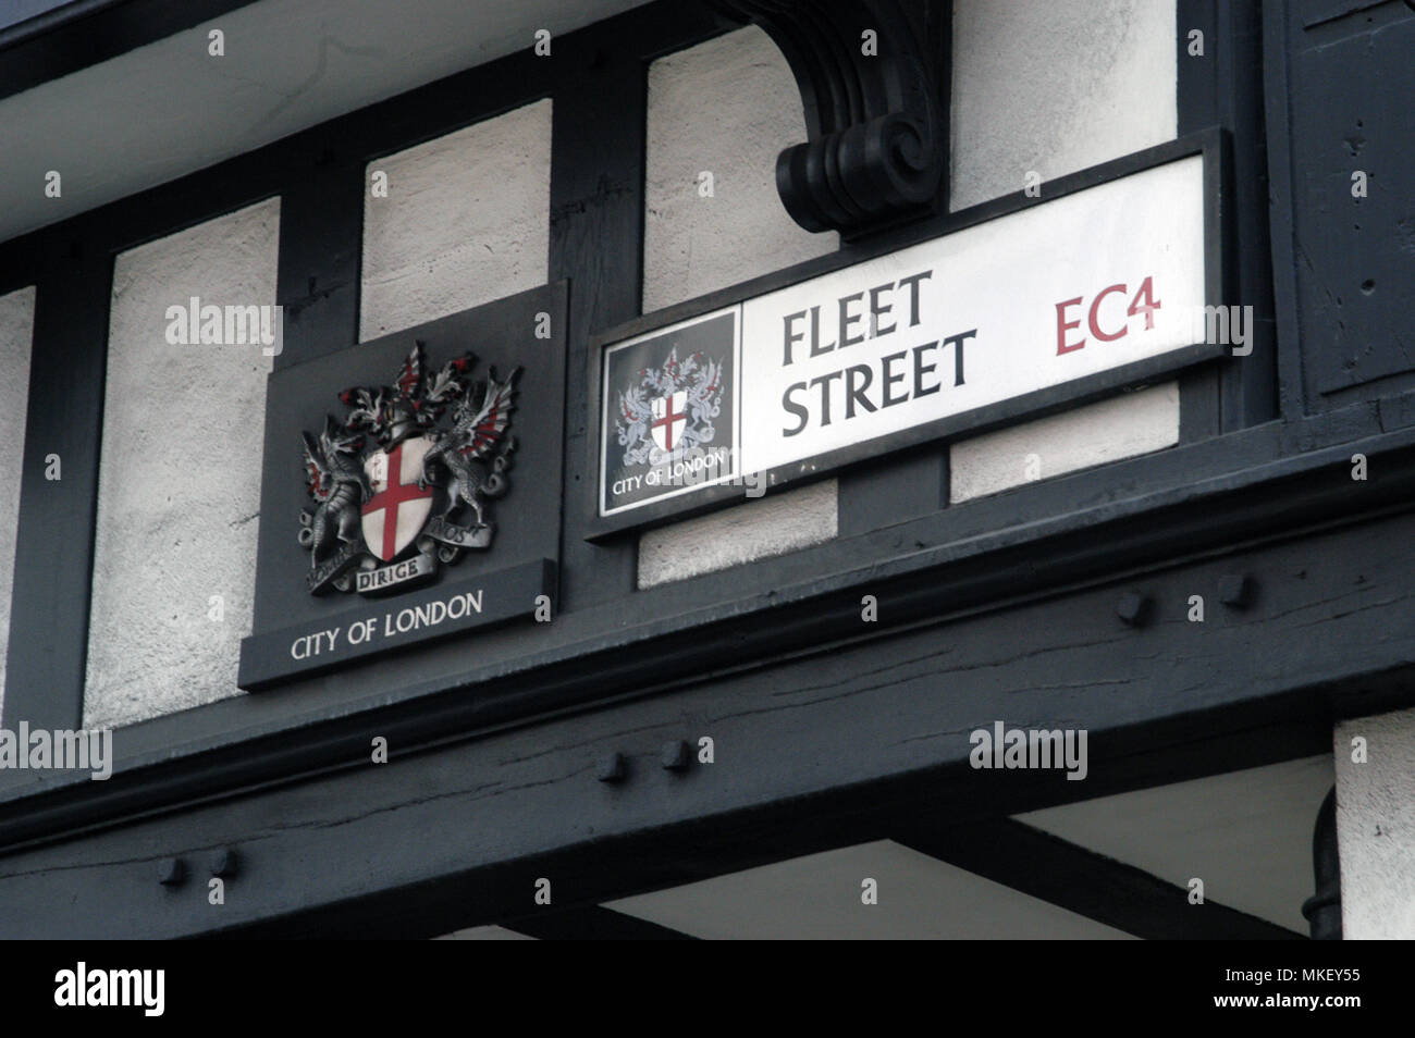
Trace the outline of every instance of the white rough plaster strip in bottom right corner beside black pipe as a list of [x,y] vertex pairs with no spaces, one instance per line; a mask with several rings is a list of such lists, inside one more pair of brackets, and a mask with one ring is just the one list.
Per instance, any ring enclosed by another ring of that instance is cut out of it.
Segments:
[[1415,710],[1341,721],[1333,752],[1341,936],[1415,939]]

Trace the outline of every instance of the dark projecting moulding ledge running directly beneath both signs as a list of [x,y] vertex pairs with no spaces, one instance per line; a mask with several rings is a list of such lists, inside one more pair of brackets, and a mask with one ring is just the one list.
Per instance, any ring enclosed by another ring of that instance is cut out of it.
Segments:
[[[1415,419],[1382,433],[1382,414],[1353,406],[1292,427],[1272,423],[1029,484],[893,530],[764,560],[753,567],[749,590],[741,574],[708,574],[644,593],[648,615],[659,611],[654,621],[625,624],[606,611],[563,614],[550,648],[514,665],[422,682],[402,689],[392,704],[386,689],[354,699],[313,690],[290,701],[238,697],[130,725],[116,744],[123,774],[102,789],[62,775],[0,772],[0,833],[28,839],[202,791],[299,774],[344,759],[351,747],[366,745],[368,734],[416,740],[457,730],[468,718],[499,724],[586,699],[608,701],[625,687],[651,683],[665,666],[720,666],[720,645],[733,646],[734,660],[788,651],[833,625],[853,625],[860,591],[852,588],[865,581],[876,594],[880,581],[932,588],[917,604],[924,615],[937,615],[964,602],[1009,598],[1019,587],[1041,593],[1078,573],[1115,573],[1312,523],[1354,522],[1415,499]],[[1367,455],[1378,478],[1351,482],[1354,451]],[[1142,516],[1145,522],[1136,522]],[[1007,557],[989,560],[995,552]],[[831,576],[809,576],[819,573]],[[907,608],[882,612],[884,625],[910,618]],[[599,676],[593,687],[584,673]],[[23,803],[28,796],[37,798],[33,805]]]

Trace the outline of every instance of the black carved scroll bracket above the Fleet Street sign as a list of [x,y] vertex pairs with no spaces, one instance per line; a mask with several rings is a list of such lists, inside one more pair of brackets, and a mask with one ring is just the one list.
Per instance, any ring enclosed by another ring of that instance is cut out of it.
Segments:
[[807,231],[845,238],[935,212],[948,168],[949,3],[709,0],[781,48],[807,137],[777,191]]

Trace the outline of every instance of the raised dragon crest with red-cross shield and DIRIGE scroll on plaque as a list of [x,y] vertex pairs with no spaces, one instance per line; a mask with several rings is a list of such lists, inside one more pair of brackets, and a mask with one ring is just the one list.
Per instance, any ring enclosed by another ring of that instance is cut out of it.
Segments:
[[300,544],[311,594],[405,590],[491,546],[490,502],[509,488],[516,447],[521,369],[474,380],[475,363],[467,352],[429,376],[417,342],[395,385],[345,389],[344,419],[325,416],[317,437],[304,433]]

